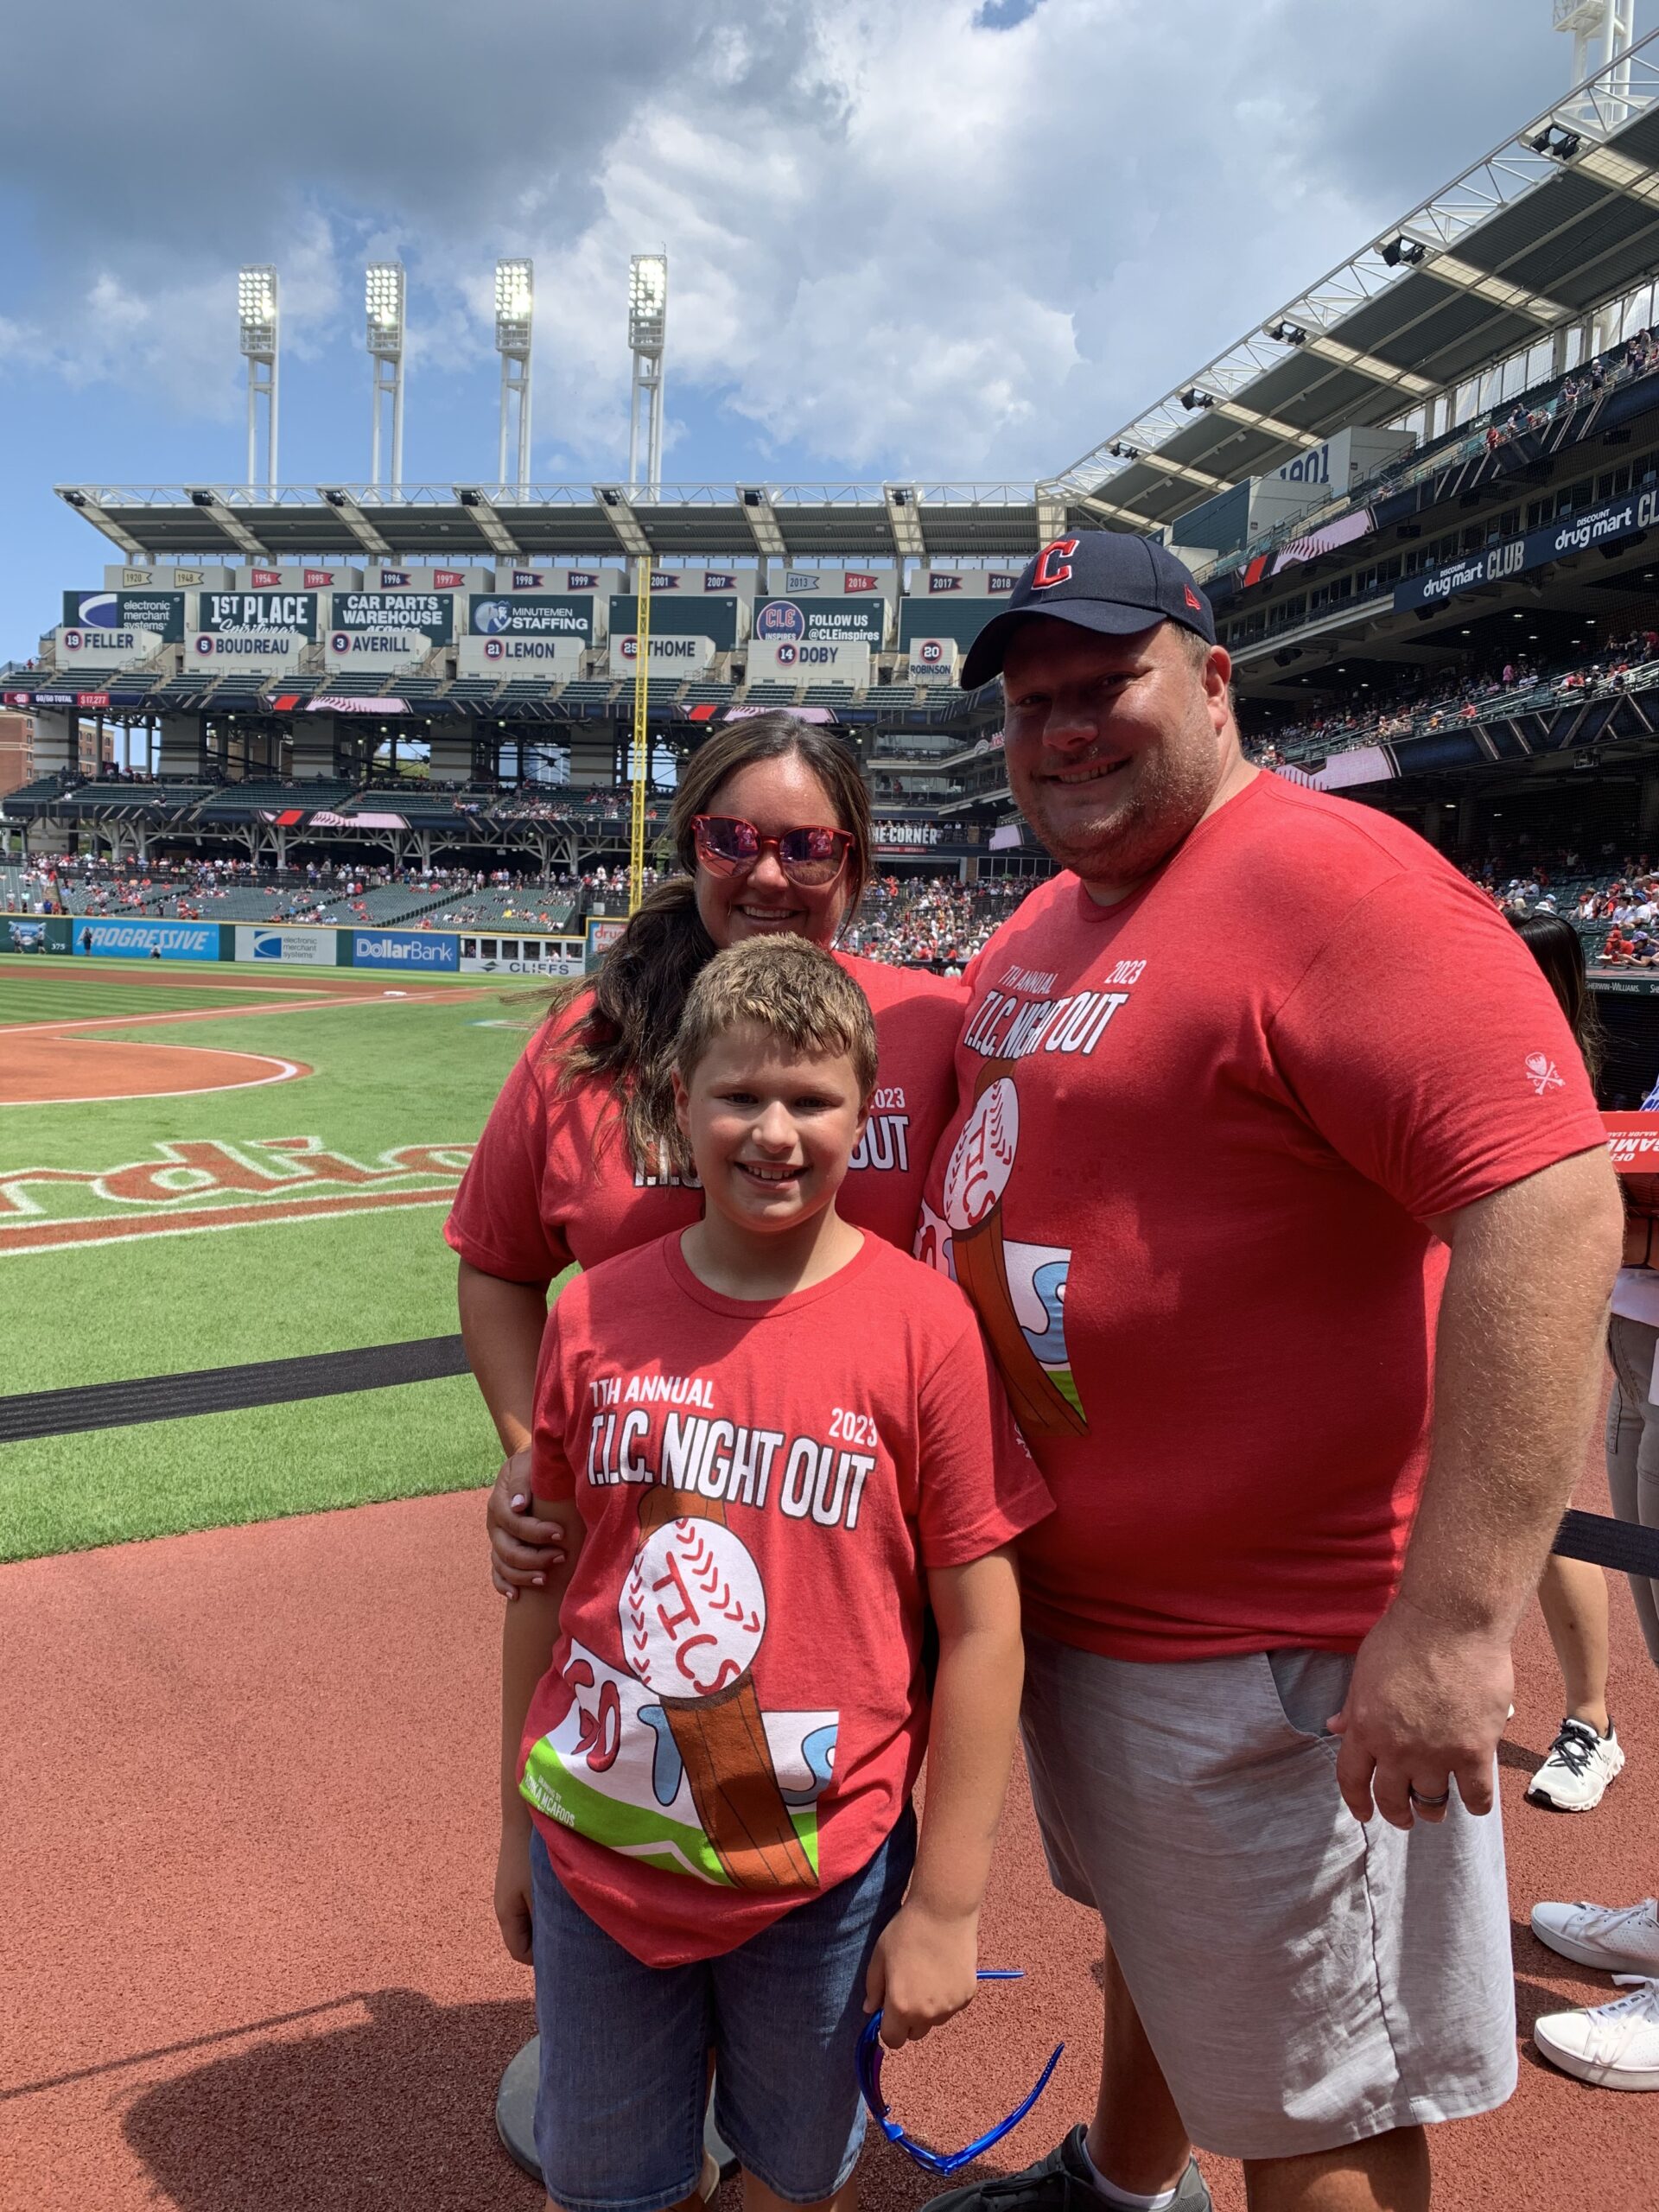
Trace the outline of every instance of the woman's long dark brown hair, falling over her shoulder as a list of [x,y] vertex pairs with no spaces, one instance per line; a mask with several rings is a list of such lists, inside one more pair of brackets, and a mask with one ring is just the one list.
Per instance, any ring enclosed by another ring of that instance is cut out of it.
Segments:
[[[752,714],[690,754],[668,810],[668,836],[684,874],[646,894],[593,975],[593,1004],[551,1046],[562,1064],[562,1088],[591,1079],[611,1086],[635,1161],[661,1159],[664,1146],[672,1150],[675,1035],[692,980],[714,958],[714,940],[697,911],[692,823],[712,812],[714,794],[728,776],[757,761],[783,759],[812,770],[830,794],[834,827],[852,832],[843,922],[852,920],[869,883],[869,792],[858,761],[841,739],[794,714]],[[582,989],[586,984],[560,991],[555,1013]]]

